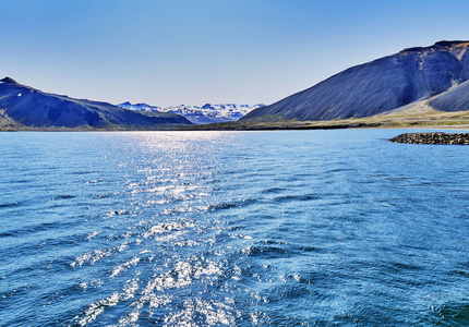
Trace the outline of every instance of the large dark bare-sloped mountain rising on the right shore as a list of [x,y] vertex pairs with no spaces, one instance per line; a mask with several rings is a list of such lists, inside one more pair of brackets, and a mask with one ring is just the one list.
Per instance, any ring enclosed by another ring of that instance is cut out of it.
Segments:
[[[450,96],[448,93],[448,98],[442,96],[430,105],[444,111],[469,110],[469,96],[465,90],[457,90],[459,84],[465,89],[469,87],[462,84],[469,78],[468,47],[469,41],[440,41],[431,47],[405,49],[350,68],[276,104],[257,108],[242,120],[369,117],[424,100],[452,87],[456,88]],[[456,96],[461,94],[466,95],[466,101],[456,104]]]

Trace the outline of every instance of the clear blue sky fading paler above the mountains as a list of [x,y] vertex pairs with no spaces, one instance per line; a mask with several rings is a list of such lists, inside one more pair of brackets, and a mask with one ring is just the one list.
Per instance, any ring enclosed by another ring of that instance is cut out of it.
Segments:
[[466,0],[0,0],[0,76],[75,98],[273,104],[404,48],[469,39]]

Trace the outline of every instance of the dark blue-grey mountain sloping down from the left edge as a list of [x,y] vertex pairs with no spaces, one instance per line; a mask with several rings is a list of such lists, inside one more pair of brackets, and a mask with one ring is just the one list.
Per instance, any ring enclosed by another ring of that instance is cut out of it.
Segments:
[[79,100],[0,81],[0,128],[164,129],[191,124],[175,113],[136,112],[107,102]]

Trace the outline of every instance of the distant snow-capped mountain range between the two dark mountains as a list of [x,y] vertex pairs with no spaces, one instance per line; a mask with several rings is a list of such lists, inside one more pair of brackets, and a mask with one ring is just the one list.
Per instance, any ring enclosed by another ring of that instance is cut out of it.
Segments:
[[137,111],[158,111],[158,112],[172,112],[179,113],[185,117],[193,123],[196,124],[209,124],[216,122],[226,122],[226,121],[236,121],[254,110],[255,108],[263,107],[265,105],[236,105],[236,104],[219,104],[219,105],[211,105],[206,104],[202,107],[199,106],[171,106],[167,108],[149,106],[146,104],[136,104],[132,105],[130,102],[123,102],[118,105],[118,107],[124,109],[132,109]]

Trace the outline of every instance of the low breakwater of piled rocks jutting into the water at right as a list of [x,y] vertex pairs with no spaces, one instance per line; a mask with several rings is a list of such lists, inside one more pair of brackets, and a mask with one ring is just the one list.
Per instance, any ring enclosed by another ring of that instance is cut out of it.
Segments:
[[394,143],[410,144],[468,144],[469,133],[405,133],[389,140]]

